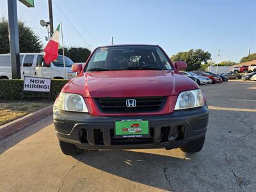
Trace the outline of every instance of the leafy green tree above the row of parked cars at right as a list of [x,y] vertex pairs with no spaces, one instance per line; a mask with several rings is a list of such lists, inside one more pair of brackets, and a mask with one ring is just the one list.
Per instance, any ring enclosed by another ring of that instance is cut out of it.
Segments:
[[202,49],[190,49],[185,52],[178,52],[171,58],[172,61],[186,61],[188,67],[186,70],[197,70],[201,67],[202,63],[207,64],[207,61],[211,60],[211,53],[203,51]]

